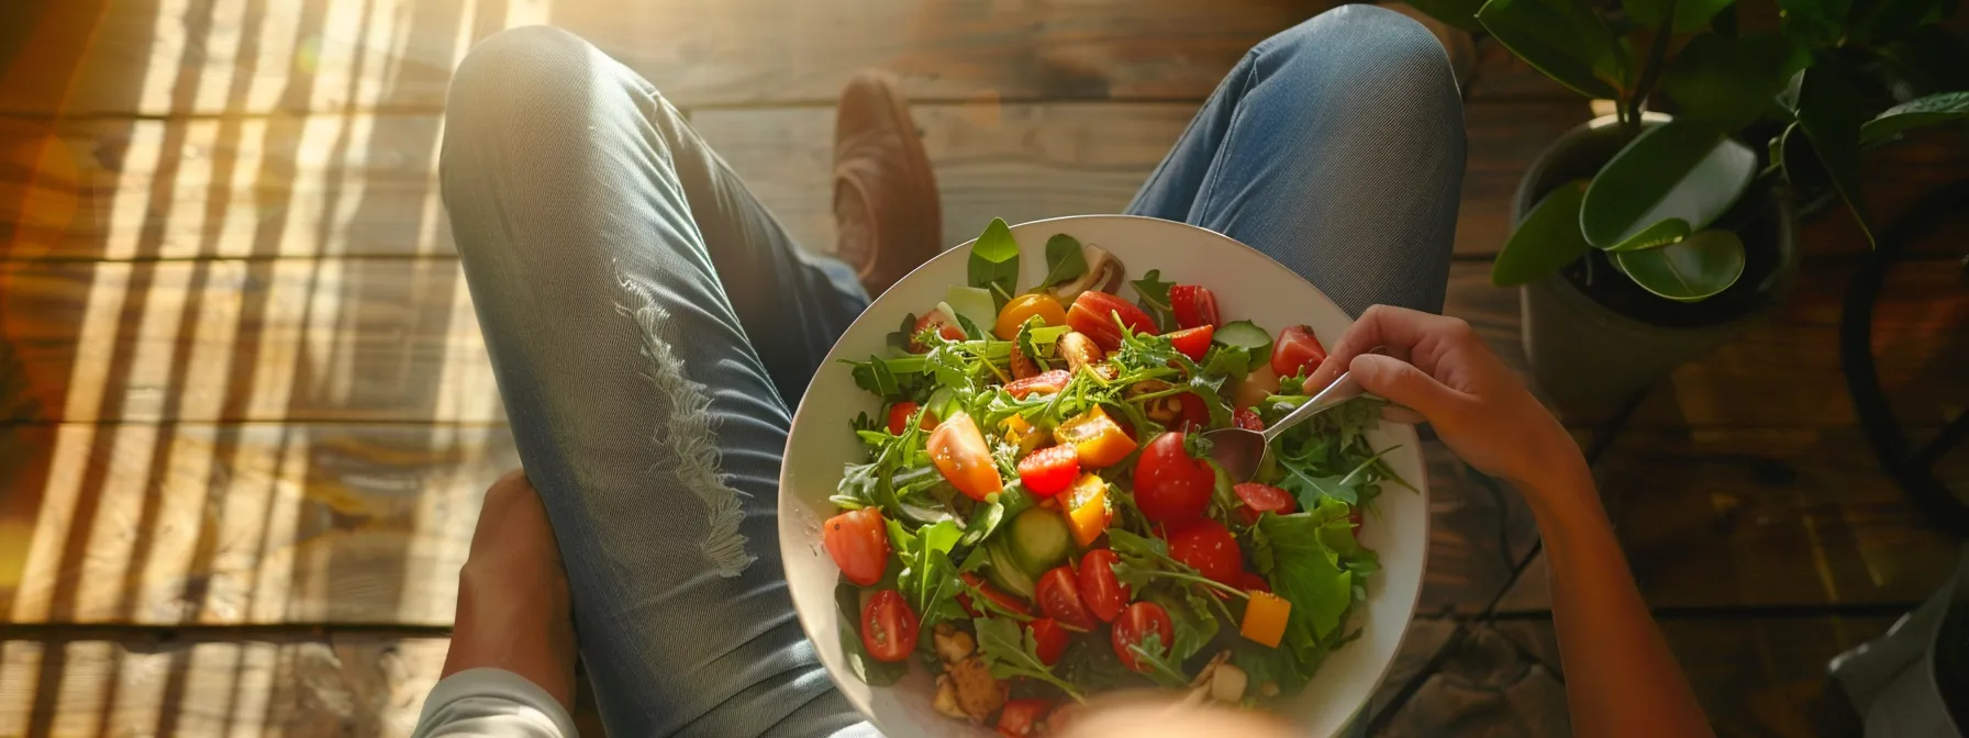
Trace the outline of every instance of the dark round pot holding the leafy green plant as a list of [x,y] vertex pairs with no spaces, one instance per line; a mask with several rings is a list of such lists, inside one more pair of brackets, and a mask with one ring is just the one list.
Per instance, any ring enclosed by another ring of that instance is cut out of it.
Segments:
[[[1668,120],[1650,116],[1650,124]],[[1620,126],[1597,118],[1559,136],[1518,183],[1514,216],[1552,189],[1593,177],[1620,150]],[[1532,380],[1569,417],[1607,417],[1628,396],[1776,309],[1798,276],[1790,199],[1752,189],[1717,220],[1745,242],[1743,277],[1699,303],[1656,297],[1589,252],[1520,287],[1524,356]]]

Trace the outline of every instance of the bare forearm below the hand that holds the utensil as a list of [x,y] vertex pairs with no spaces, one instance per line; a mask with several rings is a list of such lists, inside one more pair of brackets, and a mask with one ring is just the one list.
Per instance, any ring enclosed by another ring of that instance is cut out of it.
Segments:
[[1648,614],[1583,462],[1524,490],[1552,571],[1552,622],[1581,736],[1711,736]]

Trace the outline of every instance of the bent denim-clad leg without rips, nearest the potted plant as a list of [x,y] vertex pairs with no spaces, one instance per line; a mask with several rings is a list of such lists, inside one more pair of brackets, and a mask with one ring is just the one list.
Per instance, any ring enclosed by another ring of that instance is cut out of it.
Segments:
[[1341,6],[1258,43],[1128,213],[1223,232],[1361,315],[1441,311],[1463,102],[1414,20]]

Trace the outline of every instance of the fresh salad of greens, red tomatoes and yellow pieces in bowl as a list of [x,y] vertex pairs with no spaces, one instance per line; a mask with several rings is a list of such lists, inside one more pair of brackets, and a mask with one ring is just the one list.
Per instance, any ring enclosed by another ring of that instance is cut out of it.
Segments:
[[1406,486],[1365,437],[1380,400],[1294,427],[1231,484],[1203,433],[1309,400],[1311,329],[1225,321],[1211,287],[1156,270],[1122,299],[1122,264],[1065,234],[1032,289],[1018,260],[992,220],[969,283],[849,362],[882,401],[821,525],[851,669],[890,685],[921,663],[937,712],[1008,736],[1109,689],[1294,695],[1359,636],[1361,510]]

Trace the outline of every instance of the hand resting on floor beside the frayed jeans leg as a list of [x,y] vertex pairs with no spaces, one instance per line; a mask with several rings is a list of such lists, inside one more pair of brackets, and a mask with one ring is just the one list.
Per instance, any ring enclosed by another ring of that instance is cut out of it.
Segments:
[[492,482],[459,571],[459,612],[443,675],[506,669],[575,703],[575,622],[561,547],[526,472]]

